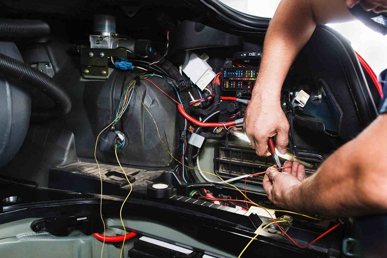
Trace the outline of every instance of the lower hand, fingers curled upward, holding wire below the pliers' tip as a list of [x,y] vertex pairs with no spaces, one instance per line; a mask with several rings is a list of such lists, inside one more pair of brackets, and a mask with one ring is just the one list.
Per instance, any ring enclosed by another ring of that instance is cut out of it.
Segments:
[[292,190],[305,179],[305,166],[299,162],[286,161],[282,172],[274,167],[266,170],[263,178],[263,189],[267,198],[277,206],[293,209],[291,199]]

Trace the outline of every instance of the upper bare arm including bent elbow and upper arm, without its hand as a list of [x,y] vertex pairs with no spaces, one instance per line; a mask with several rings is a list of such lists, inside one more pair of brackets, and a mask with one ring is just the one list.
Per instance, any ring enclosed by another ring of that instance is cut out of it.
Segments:
[[282,0],[267,30],[253,90],[255,98],[277,101],[286,74],[316,24],[353,20],[344,0]]

